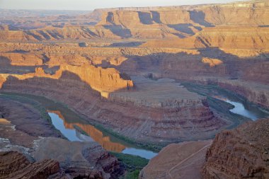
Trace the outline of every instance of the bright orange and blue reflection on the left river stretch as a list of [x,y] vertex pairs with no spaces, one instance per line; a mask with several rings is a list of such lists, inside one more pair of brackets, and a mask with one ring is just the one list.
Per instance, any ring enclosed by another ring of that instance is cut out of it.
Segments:
[[[121,152],[123,154],[137,155],[144,158],[153,158],[156,153],[153,151],[147,151],[144,149],[136,149],[130,146],[120,144],[118,142],[111,142],[109,136],[104,136],[103,132],[96,129],[92,125],[83,124],[81,122],[69,122],[64,119],[64,116],[59,110],[47,110],[50,118],[52,119],[52,125],[55,126],[64,137],[67,137],[70,141],[79,142],[98,142],[108,151]],[[79,129],[78,129],[79,127]],[[81,132],[80,132],[81,131]],[[84,133],[85,134],[82,134]]]

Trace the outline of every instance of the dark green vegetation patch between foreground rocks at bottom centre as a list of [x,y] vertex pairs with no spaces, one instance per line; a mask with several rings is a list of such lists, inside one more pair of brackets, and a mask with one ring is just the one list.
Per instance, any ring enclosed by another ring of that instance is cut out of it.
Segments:
[[149,163],[148,159],[139,156],[132,156],[129,154],[121,154],[116,152],[110,152],[110,154],[117,157],[125,167],[127,171],[124,176],[125,179],[137,179],[139,172],[142,170],[142,168],[144,168],[144,166],[147,166],[147,163]]

